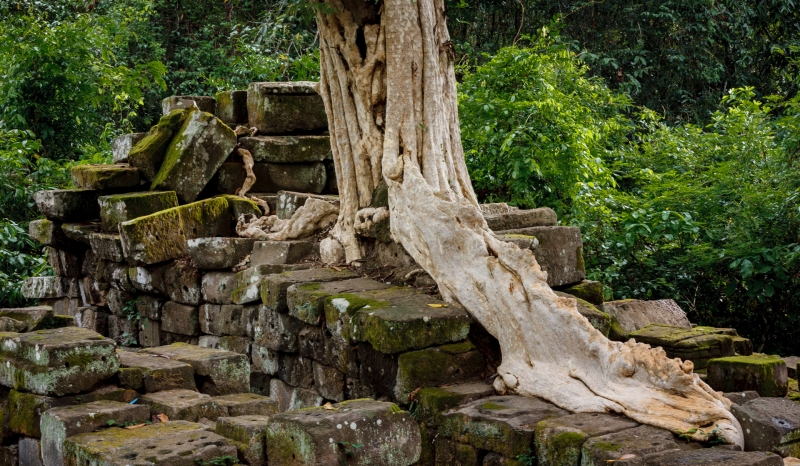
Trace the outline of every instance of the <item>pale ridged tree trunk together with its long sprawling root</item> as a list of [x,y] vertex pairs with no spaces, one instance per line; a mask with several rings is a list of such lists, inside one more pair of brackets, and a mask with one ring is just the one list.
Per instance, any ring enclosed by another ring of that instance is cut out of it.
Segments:
[[385,180],[394,240],[499,340],[499,391],[673,432],[702,429],[697,440],[716,429],[742,445],[730,401],[691,362],[609,341],[574,299],[553,293],[531,251],[489,230],[464,163],[443,0],[325,0],[317,23],[341,198],[332,237],[348,262],[362,257],[357,229]]

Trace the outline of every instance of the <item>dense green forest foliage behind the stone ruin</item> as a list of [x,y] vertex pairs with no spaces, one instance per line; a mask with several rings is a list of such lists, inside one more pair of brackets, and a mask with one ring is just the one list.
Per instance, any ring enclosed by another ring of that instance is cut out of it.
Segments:
[[[674,298],[800,352],[793,0],[451,0],[481,200],[581,227],[607,299]],[[160,101],[315,80],[313,2],[0,0],[0,306],[48,274],[31,194],[149,128]]]

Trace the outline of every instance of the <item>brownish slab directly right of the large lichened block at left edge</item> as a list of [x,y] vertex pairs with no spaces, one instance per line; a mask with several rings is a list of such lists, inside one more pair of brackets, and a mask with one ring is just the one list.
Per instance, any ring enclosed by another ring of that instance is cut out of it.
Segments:
[[195,390],[194,369],[189,364],[143,353],[119,353],[120,385],[143,393]]

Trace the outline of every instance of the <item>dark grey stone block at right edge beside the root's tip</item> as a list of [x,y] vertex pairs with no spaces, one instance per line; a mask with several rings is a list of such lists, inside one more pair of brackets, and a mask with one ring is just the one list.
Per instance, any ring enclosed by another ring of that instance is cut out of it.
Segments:
[[756,398],[735,404],[746,451],[771,451],[800,457],[800,404],[785,398]]

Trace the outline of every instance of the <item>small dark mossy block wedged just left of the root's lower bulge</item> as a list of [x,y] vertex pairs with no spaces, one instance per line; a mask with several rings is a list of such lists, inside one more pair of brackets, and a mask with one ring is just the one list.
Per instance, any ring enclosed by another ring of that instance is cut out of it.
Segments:
[[416,396],[419,402],[416,418],[422,424],[437,426],[443,412],[494,394],[494,387],[483,382],[423,388]]

